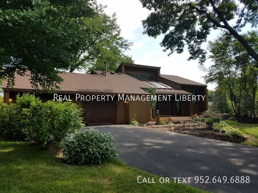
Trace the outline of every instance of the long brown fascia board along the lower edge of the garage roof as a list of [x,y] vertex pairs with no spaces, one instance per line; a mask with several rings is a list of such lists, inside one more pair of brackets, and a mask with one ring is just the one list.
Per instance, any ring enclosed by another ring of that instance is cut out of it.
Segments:
[[[34,89],[8,89],[8,88],[3,88],[3,91],[14,91],[14,92],[36,92]],[[49,93],[43,90],[39,90],[40,93]],[[56,91],[53,93],[49,94],[56,94],[56,93],[62,93],[62,94],[98,94],[98,95],[118,95],[118,94],[123,94],[123,93],[104,93],[104,92],[81,92],[81,91]],[[137,93],[127,93],[125,95],[150,95],[148,92],[146,94],[137,94]]]

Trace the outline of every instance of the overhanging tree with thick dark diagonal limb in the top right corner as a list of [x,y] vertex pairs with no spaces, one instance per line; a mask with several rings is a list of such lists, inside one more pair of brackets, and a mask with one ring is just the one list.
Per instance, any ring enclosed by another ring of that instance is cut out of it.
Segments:
[[[222,29],[241,43],[256,62],[258,53],[240,35],[241,29],[258,23],[257,0],[140,0],[152,12],[143,21],[144,33],[151,37],[165,34],[161,46],[164,51],[182,53],[188,46],[190,59],[205,61],[201,47],[212,29]],[[256,63],[257,65],[257,63]]]

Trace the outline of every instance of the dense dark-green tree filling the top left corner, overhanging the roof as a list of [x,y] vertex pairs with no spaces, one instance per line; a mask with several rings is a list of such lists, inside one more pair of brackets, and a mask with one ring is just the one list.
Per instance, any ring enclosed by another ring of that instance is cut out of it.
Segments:
[[84,19],[93,17],[90,0],[15,0],[0,2],[0,79],[14,84],[15,71],[32,86],[58,88],[58,72],[75,66],[91,35]]

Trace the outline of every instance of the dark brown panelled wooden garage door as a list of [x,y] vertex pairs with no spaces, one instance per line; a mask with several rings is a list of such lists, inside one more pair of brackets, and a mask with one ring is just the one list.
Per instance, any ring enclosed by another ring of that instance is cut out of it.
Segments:
[[83,101],[82,108],[88,124],[116,122],[116,101]]

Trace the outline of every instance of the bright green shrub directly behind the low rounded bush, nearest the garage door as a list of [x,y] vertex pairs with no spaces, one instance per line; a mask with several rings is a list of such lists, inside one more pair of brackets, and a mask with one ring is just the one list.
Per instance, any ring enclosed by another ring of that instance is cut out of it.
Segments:
[[29,139],[43,147],[57,145],[61,140],[83,128],[81,111],[72,102],[35,100],[28,109],[31,124]]

